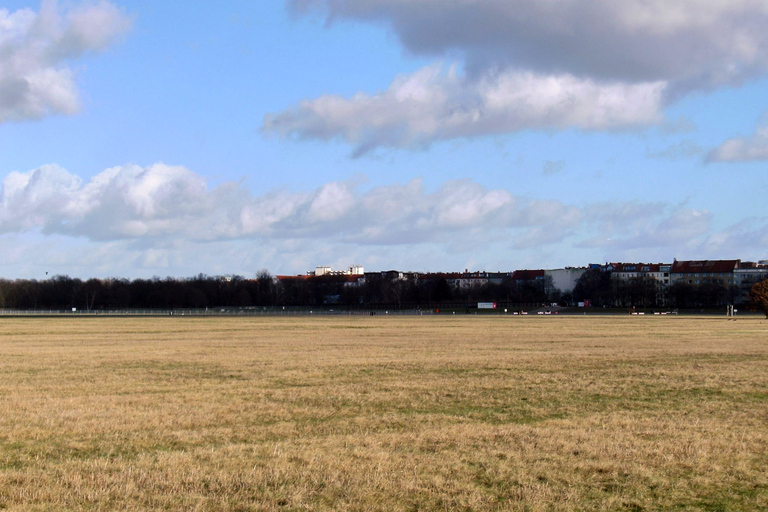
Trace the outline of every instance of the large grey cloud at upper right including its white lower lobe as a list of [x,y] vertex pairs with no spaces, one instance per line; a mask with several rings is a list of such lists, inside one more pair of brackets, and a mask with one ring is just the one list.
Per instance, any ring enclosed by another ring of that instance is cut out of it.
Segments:
[[378,147],[525,129],[614,130],[662,120],[694,90],[768,72],[762,0],[291,0],[292,12],[388,27],[411,53],[455,59],[378,94],[267,115],[267,133]]

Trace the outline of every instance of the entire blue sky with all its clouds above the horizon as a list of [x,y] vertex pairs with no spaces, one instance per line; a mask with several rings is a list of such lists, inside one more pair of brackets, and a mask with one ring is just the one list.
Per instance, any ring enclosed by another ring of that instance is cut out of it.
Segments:
[[0,277],[768,259],[765,0],[5,1]]

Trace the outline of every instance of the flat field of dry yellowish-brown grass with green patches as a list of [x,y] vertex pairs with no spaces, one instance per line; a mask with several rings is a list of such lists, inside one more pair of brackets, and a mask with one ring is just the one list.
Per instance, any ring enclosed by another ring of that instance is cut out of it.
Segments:
[[0,509],[768,510],[768,321],[2,319]]

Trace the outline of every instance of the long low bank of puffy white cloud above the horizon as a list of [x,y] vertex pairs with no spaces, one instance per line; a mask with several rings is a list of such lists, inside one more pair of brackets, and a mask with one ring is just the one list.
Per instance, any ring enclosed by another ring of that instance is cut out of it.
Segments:
[[189,169],[166,164],[113,167],[87,181],[47,165],[10,173],[0,192],[4,236],[38,233],[130,243],[155,260],[179,244],[244,240],[342,244],[362,251],[458,242],[465,247],[504,244],[507,250],[558,244],[685,248],[703,243],[711,225],[710,212],[683,206],[574,206],[488,189],[469,179],[432,191],[418,179],[371,189],[356,181],[333,181],[307,192],[255,196],[242,183],[209,187]]

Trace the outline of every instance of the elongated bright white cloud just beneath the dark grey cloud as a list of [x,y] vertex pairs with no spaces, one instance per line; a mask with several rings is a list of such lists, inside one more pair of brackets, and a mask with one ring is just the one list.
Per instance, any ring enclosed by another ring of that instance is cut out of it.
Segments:
[[661,82],[627,85],[572,75],[507,72],[479,81],[428,66],[376,95],[322,96],[267,115],[281,136],[340,138],[356,156],[377,147],[422,148],[437,140],[526,129],[627,128],[662,119]]

